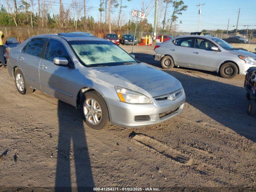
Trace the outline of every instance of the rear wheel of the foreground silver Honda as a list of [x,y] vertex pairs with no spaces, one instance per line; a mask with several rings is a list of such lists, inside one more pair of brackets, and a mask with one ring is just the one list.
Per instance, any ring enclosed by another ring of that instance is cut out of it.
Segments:
[[21,70],[16,70],[14,74],[14,81],[16,88],[20,94],[31,94],[34,92],[34,89],[26,84],[24,75]]

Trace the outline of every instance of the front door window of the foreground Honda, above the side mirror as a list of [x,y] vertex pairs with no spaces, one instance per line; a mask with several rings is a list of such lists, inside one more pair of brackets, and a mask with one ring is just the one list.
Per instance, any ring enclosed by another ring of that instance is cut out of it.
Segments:
[[64,57],[70,61],[70,57],[64,45],[58,40],[49,39],[46,46],[44,59],[53,62],[55,57]]

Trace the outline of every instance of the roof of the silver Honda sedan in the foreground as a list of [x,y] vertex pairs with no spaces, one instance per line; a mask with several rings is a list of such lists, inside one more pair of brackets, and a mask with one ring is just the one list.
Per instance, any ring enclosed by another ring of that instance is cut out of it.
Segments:
[[108,41],[106,39],[102,39],[93,35],[87,35],[87,34],[78,34],[78,33],[62,33],[62,34],[41,34],[33,36],[32,38],[63,38],[66,41]]

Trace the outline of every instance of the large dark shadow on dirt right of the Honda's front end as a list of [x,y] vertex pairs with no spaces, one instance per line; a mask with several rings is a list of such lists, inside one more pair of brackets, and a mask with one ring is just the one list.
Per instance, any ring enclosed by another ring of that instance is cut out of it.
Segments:
[[256,142],[256,125],[253,123],[255,118],[247,113],[248,100],[243,87],[171,70],[164,70],[164,72],[182,83],[187,103],[216,122]]

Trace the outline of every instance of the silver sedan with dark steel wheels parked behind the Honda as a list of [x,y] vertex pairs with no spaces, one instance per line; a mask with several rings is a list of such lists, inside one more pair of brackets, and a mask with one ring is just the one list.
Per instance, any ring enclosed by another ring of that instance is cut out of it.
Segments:
[[179,36],[157,43],[154,53],[164,69],[184,66],[216,71],[223,78],[245,75],[248,68],[256,66],[256,54],[238,50],[212,36]]

